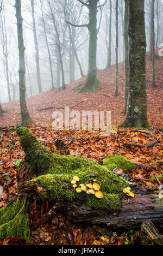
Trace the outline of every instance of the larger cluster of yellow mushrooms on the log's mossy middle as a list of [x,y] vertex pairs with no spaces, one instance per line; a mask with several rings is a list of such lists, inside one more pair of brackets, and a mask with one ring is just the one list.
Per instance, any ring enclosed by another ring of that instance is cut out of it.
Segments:
[[[99,191],[100,186],[98,183],[88,183],[86,185],[84,184],[80,184],[78,188],[77,187],[77,181],[79,181],[80,178],[78,176],[74,176],[73,180],[71,181],[72,187],[74,189],[76,189],[77,193],[81,193],[82,191],[86,192],[86,194],[89,195],[95,195],[95,197],[97,198],[103,198],[103,193],[101,191]],[[93,182],[96,182],[96,180],[94,179]]]

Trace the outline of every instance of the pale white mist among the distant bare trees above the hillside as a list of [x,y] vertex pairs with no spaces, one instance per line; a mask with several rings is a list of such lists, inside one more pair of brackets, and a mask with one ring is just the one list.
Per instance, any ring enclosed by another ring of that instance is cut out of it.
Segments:
[[[89,2],[96,5],[97,15],[97,34],[92,39],[87,29],[89,28],[87,25],[92,22],[89,20],[91,17],[89,16],[91,9],[87,6]],[[22,0],[23,38],[26,48],[24,52],[26,97],[55,87],[64,88],[65,84],[89,74],[89,66],[91,66],[90,79],[92,79],[92,70],[96,73],[96,66],[97,69],[104,69],[115,64],[116,61],[117,63],[123,61],[127,51],[125,42],[126,2],[124,0],[56,0],[54,4],[54,1],[50,0]],[[1,3],[0,100],[3,103],[19,99],[19,56],[15,1],[3,0]],[[156,48],[163,42],[162,11],[161,0],[145,0],[147,51],[151,50],[151,59],[153,46]],[[93,56],[96,38],[97,56]],[[89,39],[92,40],[91,46]],[[91,49],[92,53],[89,56]],[[90,63],[93,58],[96,59],[94,68],[93,63]]]

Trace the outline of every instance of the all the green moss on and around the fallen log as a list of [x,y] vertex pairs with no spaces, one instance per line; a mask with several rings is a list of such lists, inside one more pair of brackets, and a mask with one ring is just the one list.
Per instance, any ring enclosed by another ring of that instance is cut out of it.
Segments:
[[[54,202],[74,201],[84,195],[85,205],[91,209],[113,211],[120,209],[122,190],[128,187],[128,182],[114,174],[112,169],[116,167],[133,169],[133,163],[131,164],[127,158],[110,156],[104,159],[104,166],[102,166],[86,157],[53,154],[43,147],[26,127],[18,128],[17,134],[26,154],[26,161],[37,174],[32,181],[45,190],[39,194],[40,199]],[[77,193],[71,184],[75,175],[80,178],[77,187],[80,183],[87,184],[95,178],[101,186],[103,198],[99,199],[95,195],[87,195],[85,192]],[[28,215],[24,213],[25,204],[26,198],[21,196],[14,205],[0,210],[0,240],[14,235],[24,238],[26,242],[29,241],[31,233]]]

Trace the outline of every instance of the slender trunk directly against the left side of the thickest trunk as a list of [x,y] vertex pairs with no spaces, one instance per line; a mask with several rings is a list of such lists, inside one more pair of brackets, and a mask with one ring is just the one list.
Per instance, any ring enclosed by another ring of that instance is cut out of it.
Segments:
[[129,91],[128,0],[125,0],[125,13],[124,13],[124,46],[125,46],[124,114],[126,114],[126,111],[127,111],[128,91]]

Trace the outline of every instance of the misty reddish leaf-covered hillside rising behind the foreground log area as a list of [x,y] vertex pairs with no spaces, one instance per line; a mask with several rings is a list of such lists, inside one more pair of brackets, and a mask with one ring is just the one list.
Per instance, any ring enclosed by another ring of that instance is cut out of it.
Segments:
[[[163,127],[163,75],[162,75],[163,57],[157,58],[155,63],[156,73],[156,88],[152,88],[152,62],[149,61],[147,54],[146,65],[146,79],[147,79],[147,100],[148,100],[148,121],[153,127]],[[118,74],[118,90],[119,95],[115,97],[115,65],[108,70],[98,70],[98,79],[100,80],[100,86],[95,92],[92,93],[74,93],[73,88],[78,86],[80,82],[84,81],[84,78],[71,82],[66,86],[66,90],[55,89],[41,93],[36,96],[27,98],[27,106],[29,114],[32,117],[32,125],[52,125],[52,114],[54,110],[49,109],[44,111],[38,111],[38,109],[48,106],[75,106],[73,110],[110,110],[111,111],[111,124],[117,126],[120,124],[125,116],[123,111],[123,98],[124,98],[124,62],[119,64]],[[110,97],[104,96],[104,94]],[[19,101],[12,101],[2,104],[3,109],[7,110],[7,114],[0,117],[0,126],[16,126],[16,123],[20,123],[20,104]],[[64,112],[64,110],[61,110]]]

